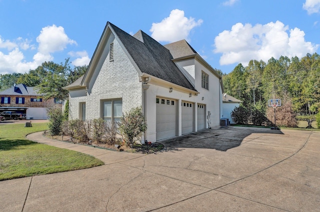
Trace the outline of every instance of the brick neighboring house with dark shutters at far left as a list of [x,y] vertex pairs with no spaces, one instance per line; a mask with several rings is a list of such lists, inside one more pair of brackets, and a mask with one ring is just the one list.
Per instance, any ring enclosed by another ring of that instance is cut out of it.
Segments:
[[22,83],[0,91],[0,97],[0,112],[25,113],[26,119],[47,119],[46,108],[54,103],[53,99],[44,100],[34,87]]

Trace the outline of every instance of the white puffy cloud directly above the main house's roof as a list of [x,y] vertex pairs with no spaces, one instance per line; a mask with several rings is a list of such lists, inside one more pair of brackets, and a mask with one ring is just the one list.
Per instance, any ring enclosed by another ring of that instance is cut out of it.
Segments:
[[173,9],[161,22],[152,23],[151,37],[157,41],[174,42],[181,39],[189,41],[190,31],[202,22],[201,19],[195,21],[193,17],[185,17],[183,10]]

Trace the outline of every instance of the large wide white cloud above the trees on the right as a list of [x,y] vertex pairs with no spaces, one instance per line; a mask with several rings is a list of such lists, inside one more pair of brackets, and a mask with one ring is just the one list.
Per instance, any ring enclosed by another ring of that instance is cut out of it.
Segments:
[[[288,31],[289,30],[289,31]],[[280,21],[261,25],[236,23],[231,30],[224,30],[214,39],[215,53],[222,53],[221,65],[241,62],[246,65],[251,59],[267,62],[272,56],[302,57],[319,47],[304,40],[299,28],[289,29]]]

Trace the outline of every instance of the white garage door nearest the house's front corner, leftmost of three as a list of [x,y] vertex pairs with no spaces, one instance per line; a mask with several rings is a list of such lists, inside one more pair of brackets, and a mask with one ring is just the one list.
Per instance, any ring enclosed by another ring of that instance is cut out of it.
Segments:
[[176,101],[156,97],[156,140],[176,135]]

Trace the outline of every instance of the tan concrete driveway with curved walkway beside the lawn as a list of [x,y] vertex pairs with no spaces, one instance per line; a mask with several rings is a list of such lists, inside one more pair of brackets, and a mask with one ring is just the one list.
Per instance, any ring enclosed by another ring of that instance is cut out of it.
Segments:
[[138,154],[46,139],[105,165],[0,181],[0,211],[320,211],[320,132],[206,129]]

